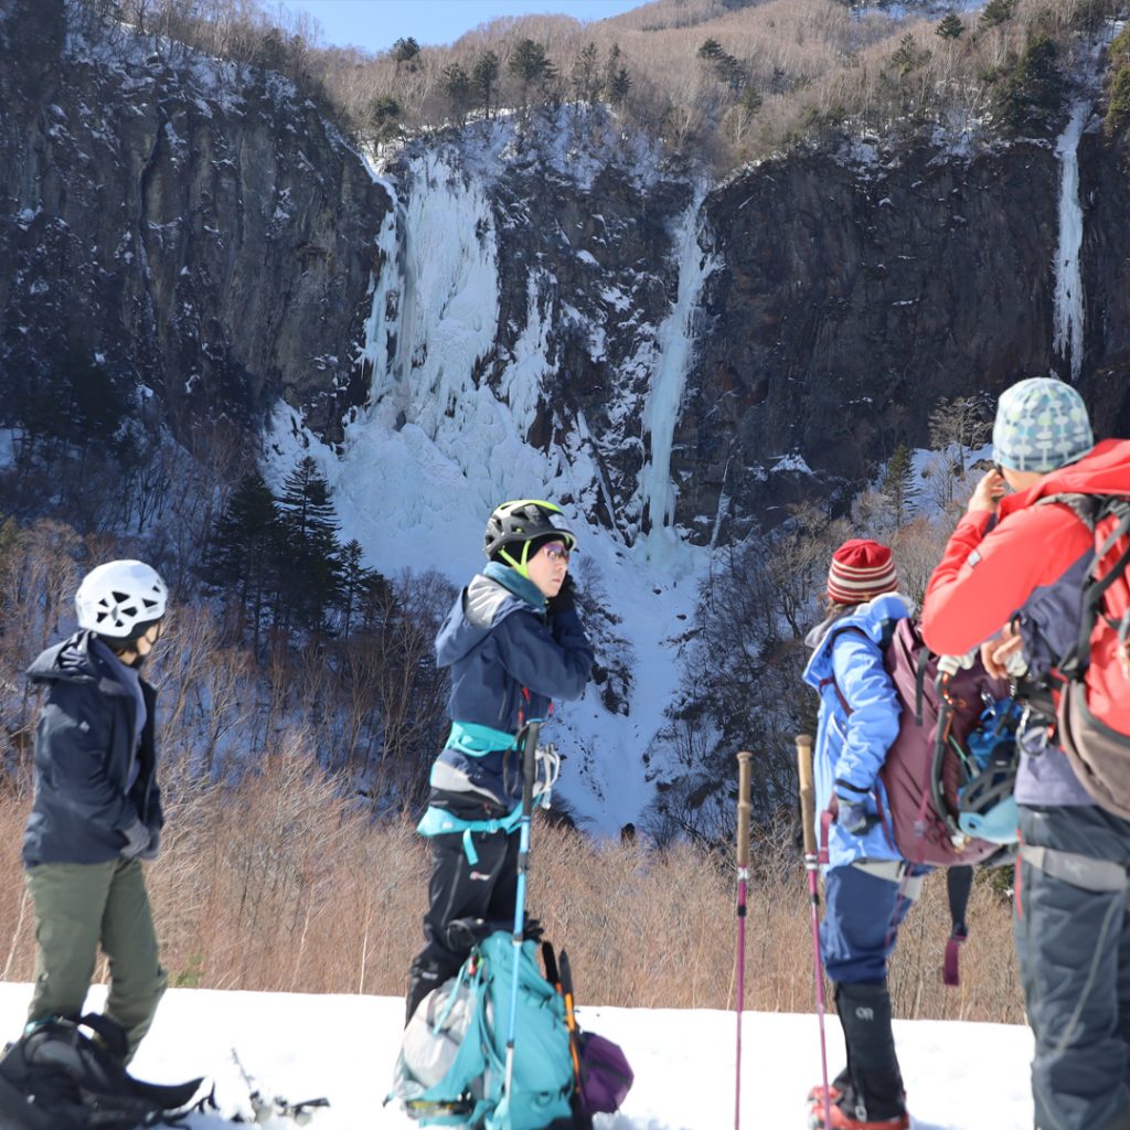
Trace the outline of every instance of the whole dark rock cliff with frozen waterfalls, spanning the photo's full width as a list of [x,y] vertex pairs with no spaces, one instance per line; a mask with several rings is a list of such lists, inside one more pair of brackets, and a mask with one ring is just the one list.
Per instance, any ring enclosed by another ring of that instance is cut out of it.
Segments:
[[[426,316],[403,323],[412,292],[434,297],[423,260],[410,284],[410,227],[441,148],[443,175],[475,182],[459,238],[494,290],[451,266],[440,301],[479,302],[460,316],[487,334],[461,388],[568,463],[558,492],[626,542],[659,523],[724,540],[794,498],[842,502],[899,441],[924,444],[939,398],[1070,371],[1054,144],[793,155],[707,191],[566,108],[418,142],[386,188],[275,77],[69,40],[59,0],[19,0],[0,37],[0,412],[79,350],[154,389],[182,435],[220,414],[255,426],[281,399],[338,444],[429,373],[401,428],[452,395]],[[1093,129],[1079,166],[1079,383],[1098,431],[1125,434],[1127,154]]]

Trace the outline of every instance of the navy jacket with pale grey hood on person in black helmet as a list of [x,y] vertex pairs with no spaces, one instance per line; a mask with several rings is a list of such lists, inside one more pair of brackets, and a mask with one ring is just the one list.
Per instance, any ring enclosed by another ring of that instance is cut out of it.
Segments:
[[514,734],[553,698],[580,698],[592,649],[572,608],[546,614],[532,581],[497,562],[460,593],[435,642],[451,668],[452,732],[432,766],[433,807],[495,817],[522,797]]

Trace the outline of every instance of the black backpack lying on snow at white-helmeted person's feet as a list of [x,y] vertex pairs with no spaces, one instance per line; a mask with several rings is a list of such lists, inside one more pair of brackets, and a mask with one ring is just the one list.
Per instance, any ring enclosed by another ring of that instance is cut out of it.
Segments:
[[[89,1034],[88,1034],[89,1033]],[[202,1079],[159,1086],[123,1066],[125,1034],[88,1015],[38,1025],[0,1059],[0,1127],[5,1130],[138,1130],[169,1124]]]

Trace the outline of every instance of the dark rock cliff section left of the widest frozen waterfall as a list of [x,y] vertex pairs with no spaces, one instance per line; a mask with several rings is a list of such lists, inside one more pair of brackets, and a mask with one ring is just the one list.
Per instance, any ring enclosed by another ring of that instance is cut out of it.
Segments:
[[279,395],[332,434],[384,191],[285,81],[67,31],[61,0],[0,24],[5,386],[96,355],[182,435]]

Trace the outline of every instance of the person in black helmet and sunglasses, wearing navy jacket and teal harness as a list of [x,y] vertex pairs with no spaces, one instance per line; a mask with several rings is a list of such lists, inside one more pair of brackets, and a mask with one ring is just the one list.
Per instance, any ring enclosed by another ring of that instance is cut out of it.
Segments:
[[407,1020],[454,976],[471,947],[512,929],[522,773],[518,734],[555,698],[580,698],[593,652],[577,616],[559,506],[521,498],[487,521],[486,567],[459,594],[436,637],[451,669],[451,731],[431,773],[418,831],[432,841],[425,946],[412,962]]

